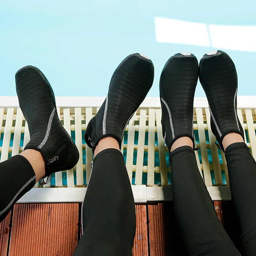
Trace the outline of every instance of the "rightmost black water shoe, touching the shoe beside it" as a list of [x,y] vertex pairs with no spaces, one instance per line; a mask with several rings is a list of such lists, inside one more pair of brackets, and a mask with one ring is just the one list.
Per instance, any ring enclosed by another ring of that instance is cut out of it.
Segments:
[[218,51],[200,60],[199,80],[208,99],[211,128],[222,147],[223,137],[237,132],[244,138],[236,111],[237,74],[227,53]]

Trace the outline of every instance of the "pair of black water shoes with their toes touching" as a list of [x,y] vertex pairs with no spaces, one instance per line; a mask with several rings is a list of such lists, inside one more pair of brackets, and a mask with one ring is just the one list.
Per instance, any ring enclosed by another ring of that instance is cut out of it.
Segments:
[[167,61],[160,77],[163,136],[169,151],[173,142],[183,136],[191,138],[194,144],[193,102],[198,76],[209,103],[211,129],[219,148],[224,151],[222,140],[230,132],[237,132],[244,139],[236,111],[236,68],[228,54],[208,52],[198,68],[193,54],[177,53]]

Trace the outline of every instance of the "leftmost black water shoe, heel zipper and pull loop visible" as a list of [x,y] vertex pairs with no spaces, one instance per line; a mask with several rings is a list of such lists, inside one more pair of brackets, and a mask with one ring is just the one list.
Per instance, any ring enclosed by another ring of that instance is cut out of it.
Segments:
[[[30,148],[41,152],[48,183],[53,172],[73,168],[79,152],[60,123],[54,93],[44,74],[36,67],[26,66],[18,70],[15,80],[20,108],[30,134],[24,150]],[[45,184],[44,179],[40,184]]]

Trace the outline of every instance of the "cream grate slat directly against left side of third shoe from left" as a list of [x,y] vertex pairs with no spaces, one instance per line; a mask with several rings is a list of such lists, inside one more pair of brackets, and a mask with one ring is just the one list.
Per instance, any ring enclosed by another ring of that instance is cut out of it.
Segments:
[[164,138],[162,133],[161,117],[162,117],[161,109],[160,108],[156,109],[156,129],[157,129],[158,148],[159,148],[161,185],[168,186],[165,145],[164,145]]

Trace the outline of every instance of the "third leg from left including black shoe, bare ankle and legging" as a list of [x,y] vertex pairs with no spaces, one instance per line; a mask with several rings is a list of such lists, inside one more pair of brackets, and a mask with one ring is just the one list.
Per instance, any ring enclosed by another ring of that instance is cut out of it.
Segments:
[[197,79],[198,62],[189,53],[172,56],[160,78],[176,219],[189,255],[240,255],[217,217],[196,163],[192,124]]

